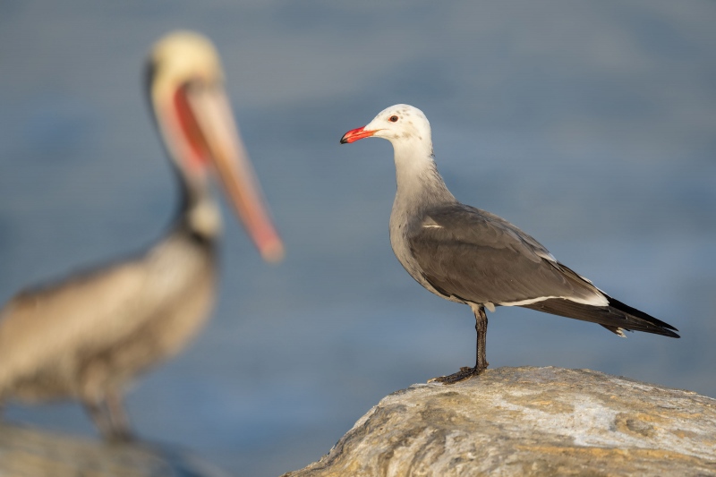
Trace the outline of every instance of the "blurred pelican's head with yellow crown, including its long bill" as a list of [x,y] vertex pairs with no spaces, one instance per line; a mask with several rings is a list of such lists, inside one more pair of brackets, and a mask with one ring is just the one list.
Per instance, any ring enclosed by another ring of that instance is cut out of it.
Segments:
[[189,207],[206,205],[213,170],[261,256],[280,260],[283,243],[243,148],[216,48],[191,31],[168,34],[149,55],[148,82],[158,129],[183,178]]

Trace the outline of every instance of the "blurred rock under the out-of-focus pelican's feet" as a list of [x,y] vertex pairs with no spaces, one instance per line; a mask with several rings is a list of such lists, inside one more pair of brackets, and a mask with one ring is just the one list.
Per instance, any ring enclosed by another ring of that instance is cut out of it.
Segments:
[[182,451],[0,425],[2,477],[226,477]]

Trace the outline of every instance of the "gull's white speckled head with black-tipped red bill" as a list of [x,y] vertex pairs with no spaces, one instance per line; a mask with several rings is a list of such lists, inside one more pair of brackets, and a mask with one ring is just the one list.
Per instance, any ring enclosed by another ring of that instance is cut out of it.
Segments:
[[432,149],[428,118],[420,109],[410,105],[395,105],[383,109],[371,123],[346,132],[341,138],[341,144],[370,137],[387,139],[393,143],[394,148],[401,143],[410,143],[424,144]]

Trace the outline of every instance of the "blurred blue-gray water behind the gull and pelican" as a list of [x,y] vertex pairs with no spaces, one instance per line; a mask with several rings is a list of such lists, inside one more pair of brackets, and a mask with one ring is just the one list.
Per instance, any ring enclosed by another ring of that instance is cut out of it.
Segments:
[[[142,62],[166,31],[191,28],[223,55],[288,256],[262,263],[226,221],[214,318],[128,397],[141,436],[277,475],[328,452],[380,397],[472,362],[469,309],[422,290],[390,250],[390,145],[338,144],[401,102],[430,118],[458,199],[683,336],[618,339],[501,309],[491,366],[590,368],[716,396],[714,20],[703,1],[5,0],[0,301],[162,233],[176,189]],[[95,435],[77,405],[6,416]]]

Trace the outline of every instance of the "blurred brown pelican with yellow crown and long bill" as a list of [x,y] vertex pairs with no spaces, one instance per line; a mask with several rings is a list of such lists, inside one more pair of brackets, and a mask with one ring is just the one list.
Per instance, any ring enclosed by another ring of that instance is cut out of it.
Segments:
[[0,311],[0,398],[79,399],[107,439],[130,436],[127,381],[180,351],[209,315],[221,227],[211,169],[261,255],[283,255],[212,44],[169,34],[148,72],[151,109],[182,183],[175,223],[141,256],[21,292]]

